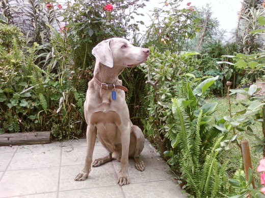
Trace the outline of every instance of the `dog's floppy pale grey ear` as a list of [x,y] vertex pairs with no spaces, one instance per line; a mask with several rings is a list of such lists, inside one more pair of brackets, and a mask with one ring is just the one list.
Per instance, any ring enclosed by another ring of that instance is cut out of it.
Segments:
[[113,68],[113,57],[112,51],[110,48],[111,40],[101,41],[97,44],[93,50],[92,54],[104,65],[108,66],[109,68]]

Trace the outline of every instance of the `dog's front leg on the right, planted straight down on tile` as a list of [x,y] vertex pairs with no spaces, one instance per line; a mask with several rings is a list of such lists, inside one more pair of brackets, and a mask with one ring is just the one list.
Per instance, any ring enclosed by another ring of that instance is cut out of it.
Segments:
[[129,144],[130,144],[130,127],[121,127],[121,170],[118,178],[120,186],[129,184],[128,164],[129,164]]

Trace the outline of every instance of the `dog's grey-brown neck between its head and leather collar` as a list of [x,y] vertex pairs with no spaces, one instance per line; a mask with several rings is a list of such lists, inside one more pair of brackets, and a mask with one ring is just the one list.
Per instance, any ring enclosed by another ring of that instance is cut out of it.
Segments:
[[124,70],[123,67],[109,68],[106,65],[96,60],[94,77],[101,83],[115,84],[119,79],[118,76]]

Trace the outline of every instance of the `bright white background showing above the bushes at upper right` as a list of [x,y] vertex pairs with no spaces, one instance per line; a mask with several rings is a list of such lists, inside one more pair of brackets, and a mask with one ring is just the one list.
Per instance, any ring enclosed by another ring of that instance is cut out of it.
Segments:
[[[150,18],[147,15],[150,14],[153,8],[162,7],[159,4],[161,2],[165,2],[164,0],[150,0],[149,2],[145,2],[146,7],[141,11],[145,14],[145,17],[142,18],[146,25],[150,24]],[[206,7],[206,4],[209,4],[211,7],[211,11],[213,12],[213,17],[217,18],[220,22],[220,29],[224,29],[227,31],[225,34],[225,40],[229,40],[231,38],[231,31],[233,31],[237,27],[238,22],[238,12],[241,9],[242,0],[183,0],[180,8],[186,8],[187,3],[191,3],[190,6],[196,6],[197,8]]]

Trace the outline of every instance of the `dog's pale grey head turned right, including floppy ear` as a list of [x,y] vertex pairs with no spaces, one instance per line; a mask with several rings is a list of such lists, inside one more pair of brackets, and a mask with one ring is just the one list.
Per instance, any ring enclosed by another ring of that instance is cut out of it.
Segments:
[[113,65],[135,67],[147,60],[149,49],[135,47],[126,39],[112,38],[96,45],[92,54],[110,68],[113,68]]

